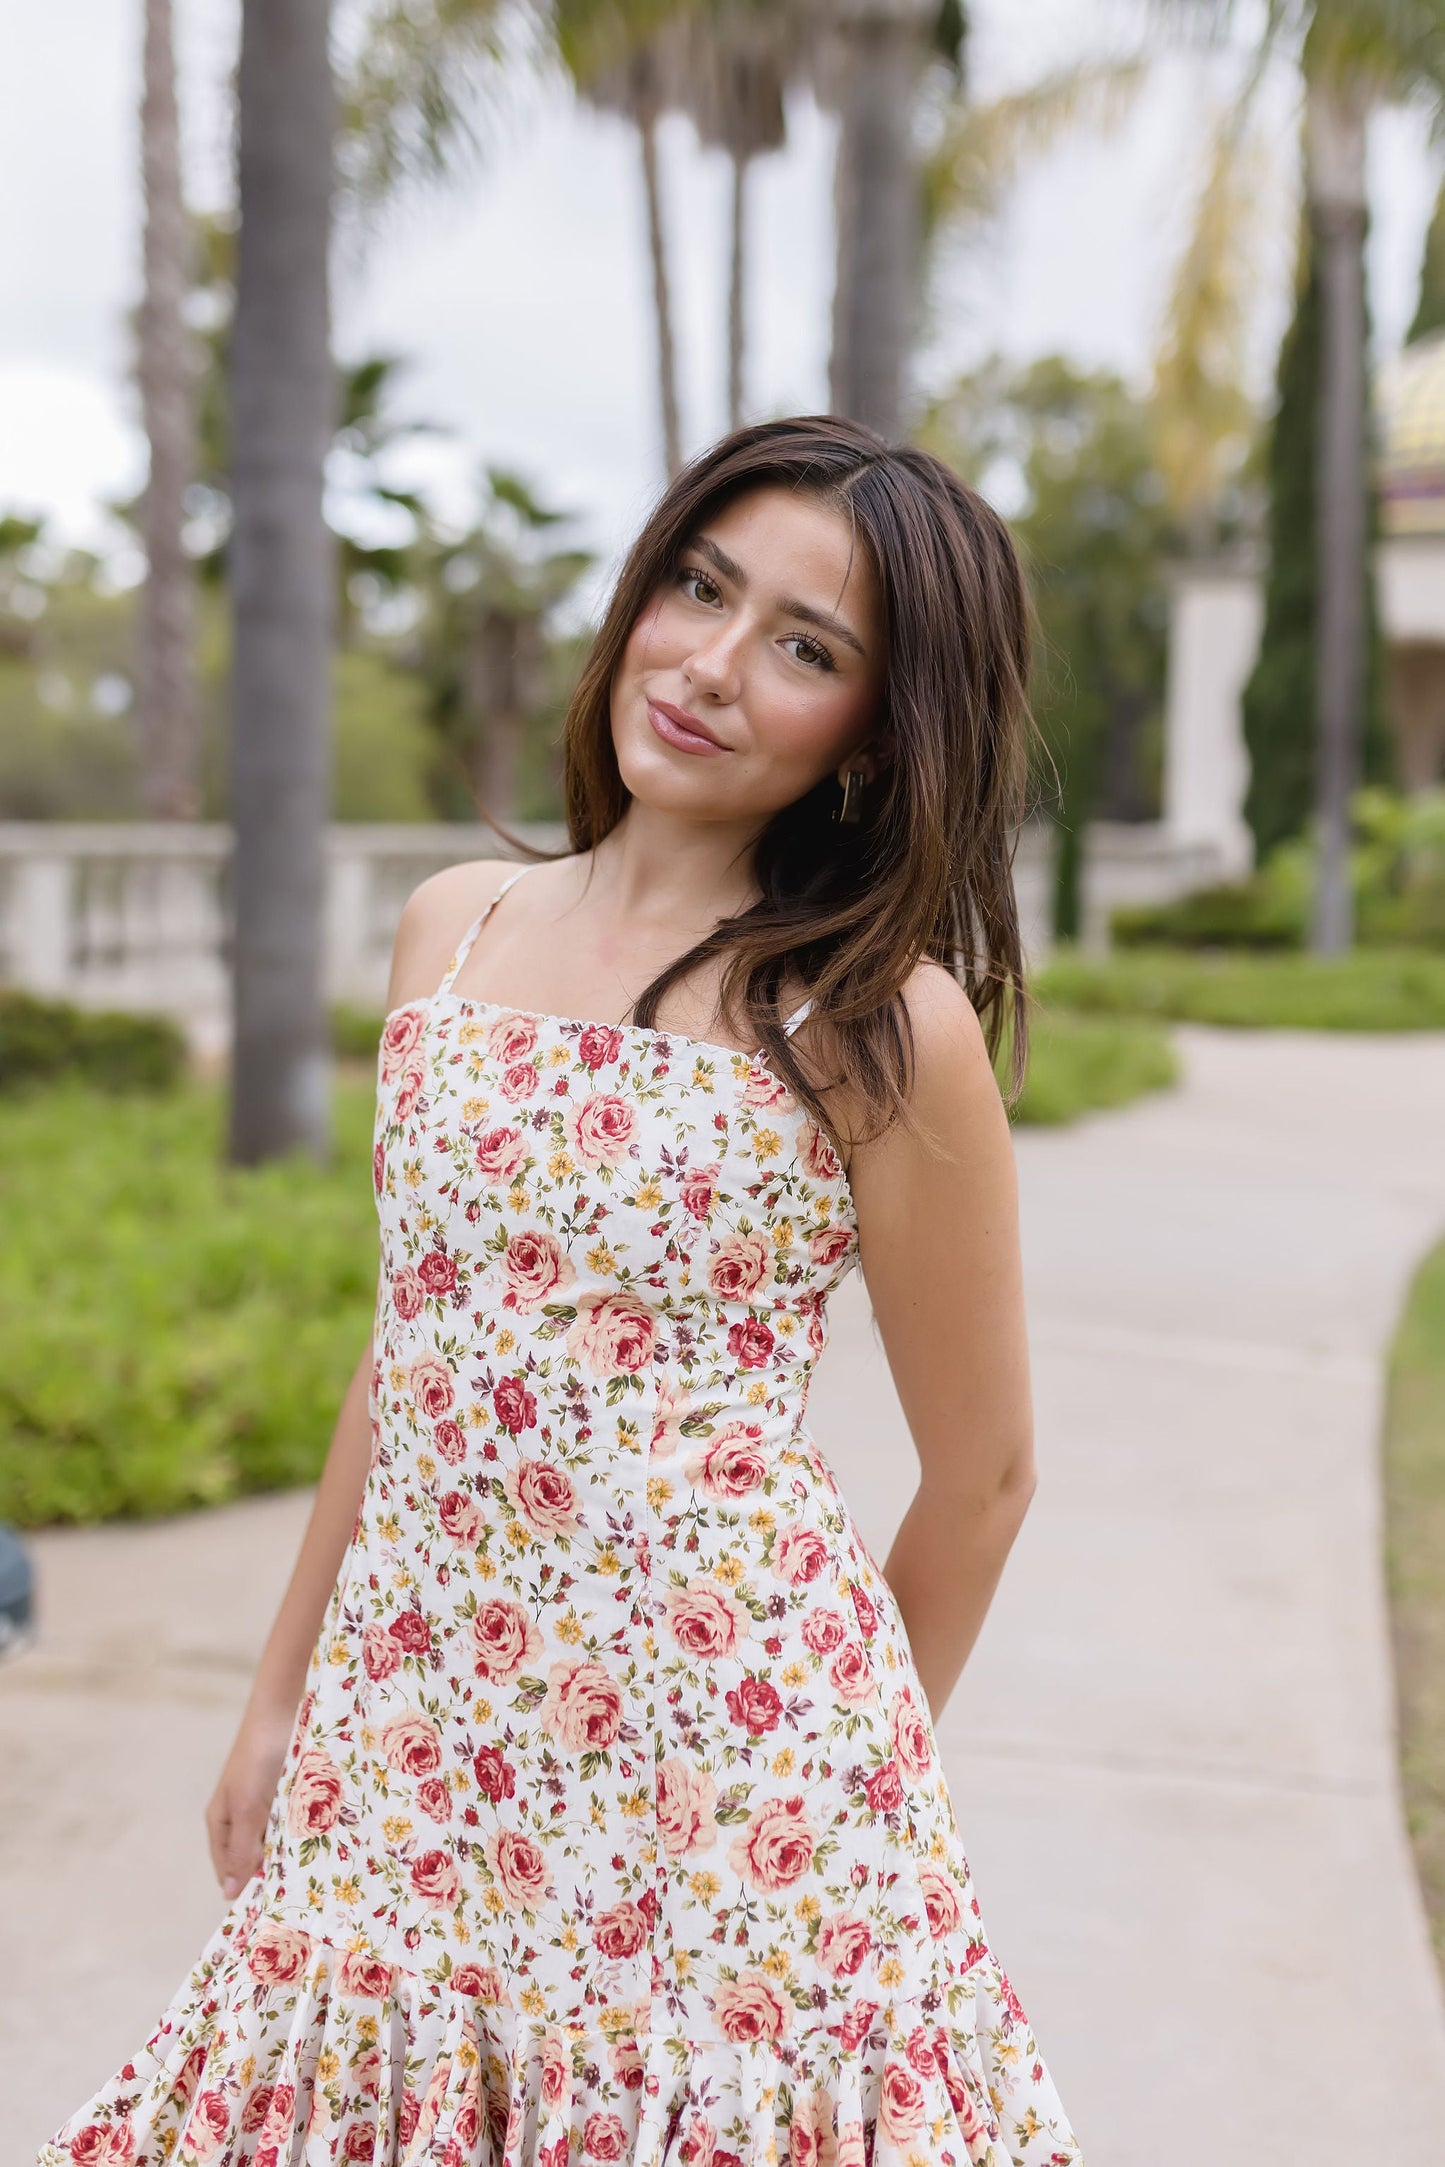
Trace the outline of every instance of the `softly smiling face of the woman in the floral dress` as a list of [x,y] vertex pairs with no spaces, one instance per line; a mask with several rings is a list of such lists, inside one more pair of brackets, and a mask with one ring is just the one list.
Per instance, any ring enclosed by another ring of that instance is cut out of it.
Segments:
[[843,511],[754,490],[685,544],[628,635],[622,780],[659,810],[765,823],[828,774],[873,778],[884,674],[877,581]]

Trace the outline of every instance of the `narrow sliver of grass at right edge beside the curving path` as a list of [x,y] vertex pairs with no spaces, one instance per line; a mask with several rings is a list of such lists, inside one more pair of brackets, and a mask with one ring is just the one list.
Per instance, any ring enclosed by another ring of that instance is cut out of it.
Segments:
[[1445,1242],[1415,1274],[1391,1348],[1384,1543],[1406,1822],[1445,1972]]

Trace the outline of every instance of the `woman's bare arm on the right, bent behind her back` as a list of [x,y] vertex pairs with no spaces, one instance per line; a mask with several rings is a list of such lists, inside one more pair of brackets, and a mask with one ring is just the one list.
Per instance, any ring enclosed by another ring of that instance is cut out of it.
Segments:
[[895,1127],[854,1149],[849,1183],[921,1465],[884,1573],[938,1716],[1033,1495],[1033,1404],[1014,1151],[984,1031],[936,964],[914,971],[906,999],[912,1105],[938,1151]]

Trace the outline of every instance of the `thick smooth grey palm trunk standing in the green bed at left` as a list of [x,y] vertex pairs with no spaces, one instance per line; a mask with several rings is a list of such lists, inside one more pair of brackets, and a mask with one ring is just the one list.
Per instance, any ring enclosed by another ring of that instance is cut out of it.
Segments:
[[243,0],[232,336],[234,1159],[329,1149],[329,0]]

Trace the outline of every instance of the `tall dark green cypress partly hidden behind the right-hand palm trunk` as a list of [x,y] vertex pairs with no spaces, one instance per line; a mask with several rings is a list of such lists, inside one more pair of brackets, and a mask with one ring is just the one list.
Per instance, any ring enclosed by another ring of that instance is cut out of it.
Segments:
[[[1257,858],[1302,834],[1315,810],[1315,459],[1319,444],[1319,275],[1309,221],[1300,230],[1296,314],[1278,360],[1278,403],[1265,477],[1270,490],[1265,624],[1244,689],[1250,787],[1244,817]],[[1378,492],[1369,490],[1369,544],[1378,535]],[[1374,581],[1367,594],[1367,689],[1363,776],[1384,782],[1391,741],[1384,724],[1384,652]]]

